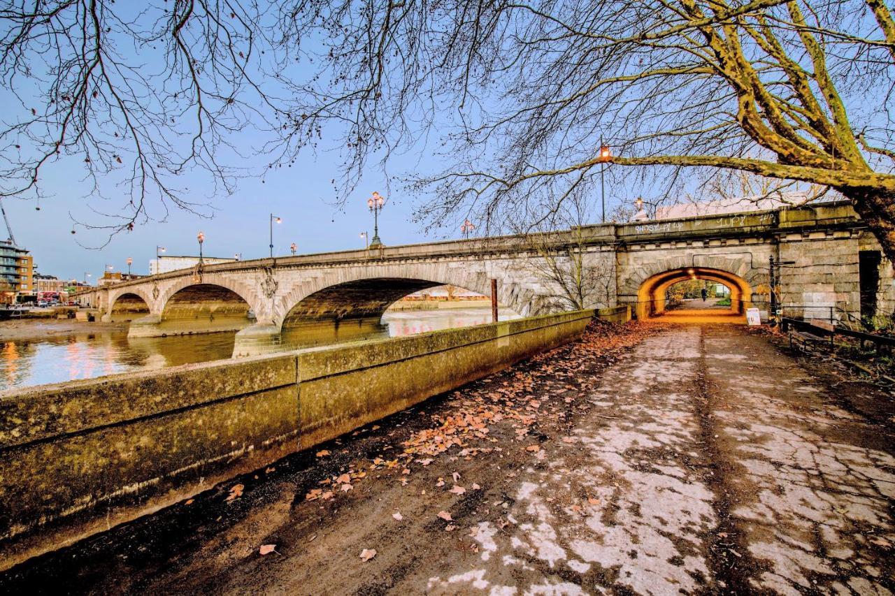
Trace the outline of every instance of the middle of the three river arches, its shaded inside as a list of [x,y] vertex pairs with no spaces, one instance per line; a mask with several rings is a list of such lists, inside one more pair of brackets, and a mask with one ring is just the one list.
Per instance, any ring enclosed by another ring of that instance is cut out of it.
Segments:
[[251,325],[251,307],[241,295],[222,285],[187,285],[171,295],[159,326],[172,334],[238,331]]

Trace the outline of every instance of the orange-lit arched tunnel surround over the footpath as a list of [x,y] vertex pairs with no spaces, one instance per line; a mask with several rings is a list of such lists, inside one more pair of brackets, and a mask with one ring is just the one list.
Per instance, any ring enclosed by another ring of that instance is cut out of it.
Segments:
[[670,269],[647,277],[637,292],[637,318],[647,319],[663,314],[666,309],[666,291],[672,285],[687,279],[704,279],[730,290],[729,314],[742,315],[751,305],[752,287],[737,274],[717,268],[683,267]]

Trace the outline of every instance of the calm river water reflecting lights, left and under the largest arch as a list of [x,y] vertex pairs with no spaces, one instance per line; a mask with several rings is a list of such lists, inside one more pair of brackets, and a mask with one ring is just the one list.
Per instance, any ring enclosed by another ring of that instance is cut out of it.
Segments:
[[[501,320],[516,319],[500,310]],[[489,323],[490,307],[441,311],[389,311],[379,336],[410,336],[426,331]],[[42,339],[0,341],[0,390],[92,379],[130,370],[162,369],[191,362],[229,358],[234,333],[128,338],[126,331],[77,333]],[[290,347],[301,347],[293,338]]]

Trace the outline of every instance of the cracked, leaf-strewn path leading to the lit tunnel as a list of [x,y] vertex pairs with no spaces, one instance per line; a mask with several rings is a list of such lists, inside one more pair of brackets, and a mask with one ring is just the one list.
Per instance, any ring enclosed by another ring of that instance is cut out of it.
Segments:
[[[638,338],[590,337],[245,476],[240,498],[228,484],[13,569],[0,588],[895,592],[891,396],[809,376],[735,326],[674,326],[626,351]],[[462,433],[439,435],[449,425]],[[439,437],[462,444],[426,453]]]

